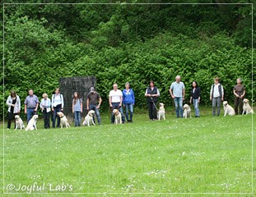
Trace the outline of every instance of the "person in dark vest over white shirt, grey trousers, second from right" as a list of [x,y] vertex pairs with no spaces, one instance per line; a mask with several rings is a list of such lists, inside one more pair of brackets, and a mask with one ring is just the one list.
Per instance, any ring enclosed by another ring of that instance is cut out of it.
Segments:
[[[215,117],[215,115],[220,116],[221,112],[221,101],[224,100],[224,89],[223,86],[219,83],[220,79],[215,78],[214,84],[212,85],[211,91],[210,91],[210,99],[212,101],[212,116]],[[217,114],[216,114],[216,108],[217,108]]]

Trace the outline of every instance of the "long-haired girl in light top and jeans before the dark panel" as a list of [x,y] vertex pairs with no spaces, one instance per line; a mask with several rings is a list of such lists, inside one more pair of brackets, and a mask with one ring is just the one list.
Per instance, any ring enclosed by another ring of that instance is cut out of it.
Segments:
[[75,114],[75,126],[81,125],[82,101],[77,92],[73,94],[72,112]]

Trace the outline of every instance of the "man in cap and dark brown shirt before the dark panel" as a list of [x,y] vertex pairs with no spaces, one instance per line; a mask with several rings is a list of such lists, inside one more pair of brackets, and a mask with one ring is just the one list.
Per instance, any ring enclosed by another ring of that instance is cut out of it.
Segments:
[[94,87],[91,87],[90,93],[87,95],[86,108],[87,108],[87,111],[90,111],[90,110],[95,111],[99,125],[101,125],[101,121],[100,121],[101,102],[102,102],[102,99],[100,97],[100,94],[95,91]]

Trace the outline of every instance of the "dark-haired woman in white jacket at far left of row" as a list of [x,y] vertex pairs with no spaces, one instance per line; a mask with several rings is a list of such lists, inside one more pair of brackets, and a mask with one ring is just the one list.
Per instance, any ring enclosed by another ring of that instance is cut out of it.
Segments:
[[[12,120],[21,112],[21,100],[14,90],[11,90],[10,96],[7,98],[7,106],[9,107],[7,129],[10,129]],[[15,126],[14,123],[14,128]]]

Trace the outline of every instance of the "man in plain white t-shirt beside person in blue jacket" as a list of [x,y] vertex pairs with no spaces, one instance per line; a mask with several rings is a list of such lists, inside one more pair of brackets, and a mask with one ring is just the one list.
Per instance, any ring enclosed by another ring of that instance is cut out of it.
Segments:
[[113,89],[109,92],[109,107],[111,108],[111,123],[114,124],[114,109],[119,109],[119,112],[122,114],[122,121],[125,122],[125,117],[123,116],[123,93],[118,89],[118,85],[114,84]]

